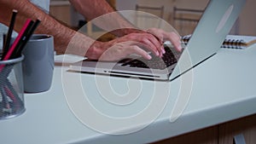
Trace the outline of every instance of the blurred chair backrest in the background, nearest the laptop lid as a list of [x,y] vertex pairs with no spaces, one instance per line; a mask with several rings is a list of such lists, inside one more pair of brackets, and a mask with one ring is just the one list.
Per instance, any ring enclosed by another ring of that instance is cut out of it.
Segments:
[[203,12],[204,9],[181,9],[174,7],[172,12],[172,26],[182,36],[191,34],[201,19]]

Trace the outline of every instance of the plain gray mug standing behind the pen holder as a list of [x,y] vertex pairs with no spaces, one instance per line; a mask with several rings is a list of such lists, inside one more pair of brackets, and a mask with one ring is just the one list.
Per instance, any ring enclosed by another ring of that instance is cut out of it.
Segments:
[[24,91],[38,93],[46,91],[52,83],[54,71],[54,37],[34,34],[22,50]]

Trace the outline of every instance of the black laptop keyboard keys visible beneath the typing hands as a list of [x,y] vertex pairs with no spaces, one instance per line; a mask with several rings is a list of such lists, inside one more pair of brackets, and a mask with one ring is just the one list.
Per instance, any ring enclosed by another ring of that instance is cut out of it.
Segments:
[[121,66],[131,66],[131,67],[140,67],[140,68],[152,68],[152,69],[166,69],[168,66],[172,66],[173,64],[177,63],[177,54],[173,54],[172,50],[165,46],[166,54],[164,54],[162,57],[158,57],[155,55],[151,55],[151,60],[146,60],[143,58],[134,59],[131,61],[128,61]]

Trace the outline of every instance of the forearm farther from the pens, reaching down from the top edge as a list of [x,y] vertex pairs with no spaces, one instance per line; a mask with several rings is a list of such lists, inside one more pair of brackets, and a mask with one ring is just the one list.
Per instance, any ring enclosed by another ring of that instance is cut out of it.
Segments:
[[[92,20],[96,26],[120,37],[139,31],[128,20],[125,20],[105,0],[69,0],[74,8],[83,14],[86,20]],[[115,12],[115,13],[113,13]],[[103,14],[106,14],[102,16]]]

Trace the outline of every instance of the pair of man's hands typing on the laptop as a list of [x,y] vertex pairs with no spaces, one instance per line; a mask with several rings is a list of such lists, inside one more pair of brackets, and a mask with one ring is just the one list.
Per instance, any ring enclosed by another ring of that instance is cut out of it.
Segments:
[[89,59],[111,61],[121,60],[131,54],[137,54],[149,60],[151,56],[148,55],[148,50],[157,56],[165,54],[164,40],[170,40],[174,47],[181,51],[180,39],[175,32],[170,33],[160,29],[150,29],[148,32],[131,33],[106,43],[96,41],[85,56]]

